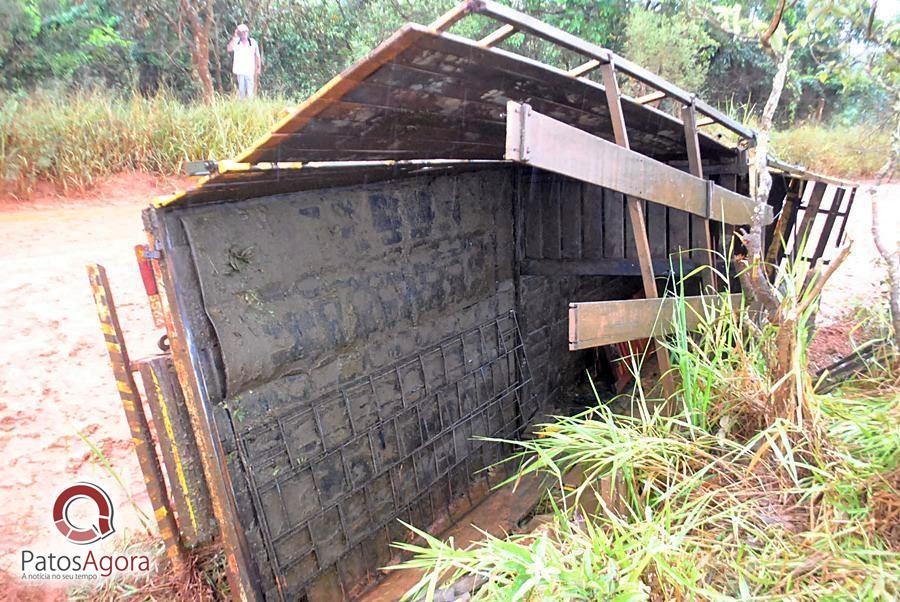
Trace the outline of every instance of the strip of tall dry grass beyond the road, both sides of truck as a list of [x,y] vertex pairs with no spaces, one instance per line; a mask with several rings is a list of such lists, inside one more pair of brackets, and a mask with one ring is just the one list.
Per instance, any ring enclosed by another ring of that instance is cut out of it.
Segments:
[[[241,102],[230,95],[186,103],[171,92],[0,94],[0,185],[27,194],[50,182],[68,192],[122,171],[167,175],[182,161],[230,159],[292,104],[284,97]],[[776,132],[773,142],[788,162],[866,179],[883,163],[890,134],[866,125],[801,125]]]

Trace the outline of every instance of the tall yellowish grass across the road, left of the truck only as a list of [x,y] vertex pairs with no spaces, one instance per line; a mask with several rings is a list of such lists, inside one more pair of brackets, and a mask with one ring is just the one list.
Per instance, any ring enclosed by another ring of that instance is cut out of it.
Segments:
[[233,157],[287,104],[226,97],[184,104],[168,93],[101,90],[0,96],[0,176],[21,191],[39,180],[84,188],[131,169],[171,174],[184,160]]

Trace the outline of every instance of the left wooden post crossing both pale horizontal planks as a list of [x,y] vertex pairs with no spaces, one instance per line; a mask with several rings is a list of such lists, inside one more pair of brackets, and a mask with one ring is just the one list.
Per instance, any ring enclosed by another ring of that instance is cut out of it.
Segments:
[[[609,116],[612,120],[613,135],[616,144],[630,148],[628,131],[625,129],[625,117],[622,113],[622,99],[619,96],[619,83],[616,81],[616,68],[612,62],[600,66],[603,76],[603,87],[606,89],[606,102],[609,105]],[[641,267],[641,279],[644,282],[644,296],[648,299],[659,297],[656,288],[656,277],[653,274],[653,262],[650,256],[650,242],[647,240],[647,225],[644,220],[644,210],[640,199],[627,197],[628,215],[631,217],[631,227],[634,232],[634,242],[637,247],[638,263]],[[671,363],[669,354],[664,347],[655,343],[656,359],[659,364],[660,380],[666,398],[675,392],[675,385],[670,373]]]

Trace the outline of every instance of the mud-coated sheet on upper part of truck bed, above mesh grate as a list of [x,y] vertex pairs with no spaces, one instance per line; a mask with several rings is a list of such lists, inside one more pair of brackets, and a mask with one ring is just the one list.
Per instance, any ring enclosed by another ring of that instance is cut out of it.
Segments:
[[[478,203],[460,200],[482,194],[476,191],[488,182],[500,194],[510,189],[511,173],[299,193],[198,207],[185,216],[205,309],[222,349],[227,394],[315,363],[386,321],[411,319],[411,312],[460,302],[493,286],[496,262],[488,257],[495,236],[485,227],[494,217],[480,215]],[[322,194],[342,200],[317,202]],[[451,232],[459,234],[437,248],[423,246]],[[440,285],[429,276],[436,258],[448,262]],[[365,272],[359,273],[360,265]],[[445,287],[448,278],[454,284]],[[342,286],[329,290],[334,280]],[[408,290],[419,297],[418,308],[399,302]]]

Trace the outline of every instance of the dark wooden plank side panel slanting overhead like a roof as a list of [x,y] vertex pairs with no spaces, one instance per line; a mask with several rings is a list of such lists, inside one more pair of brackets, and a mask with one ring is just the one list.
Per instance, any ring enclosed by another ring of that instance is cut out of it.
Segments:
[[[403,107],[425,122],[452,128],[450,140],[490,136],[490,122],[498,117],[498,109],[502,112],[502,105],[509,98],[528,100],[540,110],[595,134],[611,134],[599,84],[502,50],[480,47],[463,38],[408,26],[317,92],[285,119],[274,135],[245,153],[242,160],[257,162],[279,157],[282,161],[308,161],[313,160],[311,157],[338,157],[340,152],[348,151],[357,151],[352,156],[359,156],[358,151],[363,149],[346,144],[323,148],[321,142],[327,139],[315,136],[324,135],[327,129],[343,132],[336,136],[368,140],[370,146],[378,146],[380,141],[385,156],[392,150],[391,145],[396,153],[417,150],[416,141],[422,137],[413,128],[401,127],[396,132],[390,132],[387,125],[384,129],[369,128],[371,119],[377,119],[375,113],[395,107]],[[330,115],[329,111],[347,102],[353,105],[347,107],[349,118]],[[682,154],[683,133],[672,117],[631,101],[625,101],[624,111],[636,150],[661,157]],[[402,122],[399,115],[384,114],[394,115],[387,117],[384,124],[390,119]],[[317,134],[317,130],[322,133]],[[282,134],[292,135],[279,137]],[[310,138],[304,141],[307,136]],[[502,136],[496,139],[501,141]],[[277,150],[287,142],[290,147]],[[701,146],[704,156],[734,154],[706,136],[701,137]],[[475,153],[478,148],[482,149],[482,158],[497,158],[489,152],[490,146],[448,147],[445,158],[473,156],[463,153]]]

